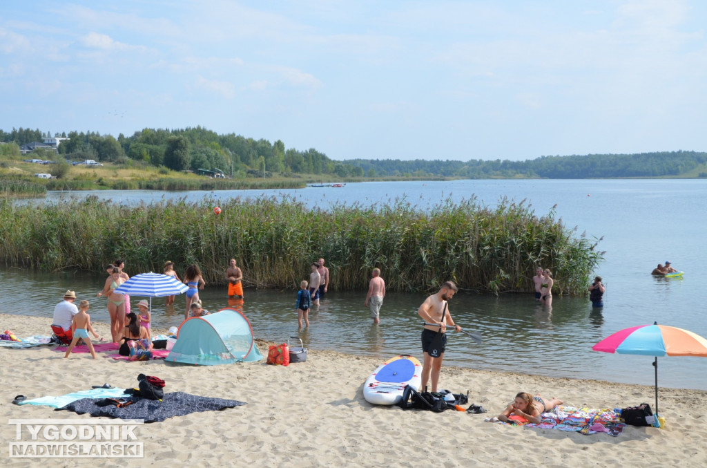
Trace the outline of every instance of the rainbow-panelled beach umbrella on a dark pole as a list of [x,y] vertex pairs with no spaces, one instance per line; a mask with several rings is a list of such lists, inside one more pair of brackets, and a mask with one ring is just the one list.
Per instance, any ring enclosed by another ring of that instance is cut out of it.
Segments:
[[632,326],[617,331],[592,346],[592,350],[603,353],[638,354],[655,356],[655,414],[658,414],[658,358],[662,356],[707,357],[707,339],[691,331],[674,326]]

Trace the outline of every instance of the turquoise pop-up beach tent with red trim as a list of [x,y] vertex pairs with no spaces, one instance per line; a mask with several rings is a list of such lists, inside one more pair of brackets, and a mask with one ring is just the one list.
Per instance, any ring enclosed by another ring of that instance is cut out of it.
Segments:
[[218,365],[263,358],[255,346],[250,321],[231,307],[182,322],[167,362]]

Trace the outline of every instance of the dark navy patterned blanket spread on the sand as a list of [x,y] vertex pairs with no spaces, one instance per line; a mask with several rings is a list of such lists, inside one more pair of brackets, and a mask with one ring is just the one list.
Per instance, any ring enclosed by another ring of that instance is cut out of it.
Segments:
[[174,416],[185,416],[189,413],[202,411],[221,411],[245,404],[243,401],[197,396],[184,392],[165,393],[162,401],[137,396],[123,399],[132,401],[132,404],[118,408],[117,406],[99,406],[96,404],[97,400],[93,399],[81,399],[62,408],[57,408],[56,411],[74,411],[77,414],[88,413],[91,416],[108,416],[110,418],[142,419],[146,423],[154,423]]

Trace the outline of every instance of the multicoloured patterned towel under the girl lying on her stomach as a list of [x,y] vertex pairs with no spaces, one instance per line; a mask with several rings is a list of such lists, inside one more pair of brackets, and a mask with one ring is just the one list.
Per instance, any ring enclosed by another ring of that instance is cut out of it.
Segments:
[[[489,418],[486,421],[501,423],[497,418]],[[518,424],[513,424],[513,426],[518,426]],[[607,433],[617,437],[624,431],[626,424],[619,421],[617,414],[612,409],[555,406],[552,411],[542,413],[540,423],[526,423],[524,426],[526,428],[568,430],[585,435]]]

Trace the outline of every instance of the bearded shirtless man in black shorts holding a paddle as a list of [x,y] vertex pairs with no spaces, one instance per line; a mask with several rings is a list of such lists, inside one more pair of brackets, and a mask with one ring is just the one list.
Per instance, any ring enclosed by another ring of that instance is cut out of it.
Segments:
[[[432,392],[437,392],[437,385],[440,381],[440,370],[442,368],[442,360],[444,359],[444,344],[447,343],[447,336],[443,334],[442,353],[439,358],[433,358],[429,355],[430,345],[436,333],[442,330],[442,333],[447,331],[447,326],[453,326],[457,331],[462,327],[455,325],[452,319],[452,314],[449,312],[447,301],[454,297],[457,292],[457,285],[452,281],[445,282],[437,294],[431,295],[425,302],[422,303],[417,310],[417,314],[425,321],[425,326],[422,331],[422,352],[424,362],[422,364],[422,388],[427,387],[427,382],[432,377]],[[444,319],[442,316],[444,315]]]

